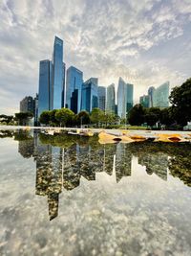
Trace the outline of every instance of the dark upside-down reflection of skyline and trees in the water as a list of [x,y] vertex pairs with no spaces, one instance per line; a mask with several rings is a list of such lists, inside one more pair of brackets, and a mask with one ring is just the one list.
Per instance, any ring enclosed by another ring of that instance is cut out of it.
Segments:
[[[115,163],[118,183],[122,177],[131,176],[132,158],[136,156],[138,164],[146,167],[148,175],[155,174],[167,180],[167,169],[173,174],[172,160],[177,157],[172,147],[164,150],[164,147],[151,143],[100,145],[96,139],[73,140],[69,136],[65,136],[62,145],[59,139],[57,141],[59,144],[51,136],[34,133],[32,140],[22,139],[18,147],[23,157],[33,156],[36,161],[35,193],[47,196],[50,220],[58,215],[59,194],[78,187],[81,176],[93,181],[96,173],[113,175]],[[187,184],[190,185],[189,182]]]

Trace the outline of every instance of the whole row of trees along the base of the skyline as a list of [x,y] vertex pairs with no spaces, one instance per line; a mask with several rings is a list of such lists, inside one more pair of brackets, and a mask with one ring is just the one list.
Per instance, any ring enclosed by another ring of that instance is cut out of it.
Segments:
[[[82,125],[94,125],[96,127],[112,128],[129,124],[132,126],[155,127],[156,124],[167,128],[182,128],[191,121],[191,79],[172,89],[169,101],[171,106],[159,109],[159,107],[144,108],[142,105],[134,105],[126,119],[121,119],[114,113],[104,112],[94,108],[91,113],[81,111],[78,114],[68,108],[43,111],[39,117],[39,123],[53,127],[76,127]],[[6,125],[28,125],[32,119],[31,112],[20,112],[12,115],[0,115],[0,123]]]

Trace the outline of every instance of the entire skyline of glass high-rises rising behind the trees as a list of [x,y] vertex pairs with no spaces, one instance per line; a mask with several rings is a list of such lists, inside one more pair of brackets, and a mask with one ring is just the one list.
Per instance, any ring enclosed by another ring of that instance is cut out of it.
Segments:
[[[20,102],[20,111],[31,111],[37,123],[41,113],[45,110],[67,107],[75,114],[81,110],[89,113],[98,107],[105,113],[116,114],[119,118],[126,118],[134,105],[134,85],[119,78],[117,90],[112,83],[108,87],[100,86],[97,78],[83,81],[83,72],[74,66],[66,70],[63,61],[63,40],[55,36],[53,44],[53,59],[39,62],[38,94],[25,97]],[[144,107],[169,105],[169,81],[158,88],[149,87],[148,95],[139,98]]]

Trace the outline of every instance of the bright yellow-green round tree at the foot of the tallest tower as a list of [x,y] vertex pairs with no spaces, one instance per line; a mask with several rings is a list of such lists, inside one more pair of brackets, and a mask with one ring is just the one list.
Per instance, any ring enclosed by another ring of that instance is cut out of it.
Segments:
[[55,119],[59,122],[60,126],[73,125],[74,112],[69,108],[58,109],[55,113]]

